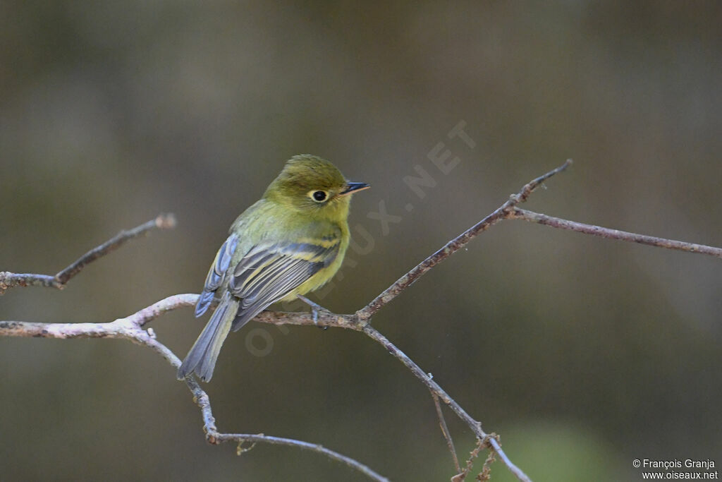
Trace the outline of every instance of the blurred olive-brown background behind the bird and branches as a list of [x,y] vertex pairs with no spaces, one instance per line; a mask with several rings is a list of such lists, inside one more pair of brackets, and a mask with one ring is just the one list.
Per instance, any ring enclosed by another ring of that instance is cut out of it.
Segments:
[[[373,185],[315,298],[332,311],[567,158],[526,208],[721,246],[721,20],[716,2],[4,1],[0,269],[53,274],[159,212],[178,228],[64,291],[8,291],[0,319],[105,322],[198,293],[232,220],[301,152]],[[450,138],[461,121],[468,139]],[[443,173],[429,155],[447,150]],[[423,197],[404,182],[419,166]],[[721,284],[713,257],[507,221],[373,324],[534,480],[640,480],[635,458],[722,463]],[[152,327],[183,358],[205,321]],[[126,341],[0,338],[0,387],[5,481],[367,480],[297,449],[209,446],[175,371]],[[359,333],[251,323],[206,389],[221,431],[321,443],[394,481],[453,475],[427,390]],[[463,460],[473,437],[447,420]]]

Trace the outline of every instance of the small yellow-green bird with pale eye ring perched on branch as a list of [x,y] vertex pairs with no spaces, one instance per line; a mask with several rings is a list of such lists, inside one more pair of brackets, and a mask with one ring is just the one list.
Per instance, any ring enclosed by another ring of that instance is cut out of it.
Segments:
[[331,280],[349,246],[349,183],[329,161],[291,158],[264,196],[238,216],[216,254],[196,304],[196,317],[220,298],[211,319],[178,369],[207,382],[230,330],[267,306],[290,301]]

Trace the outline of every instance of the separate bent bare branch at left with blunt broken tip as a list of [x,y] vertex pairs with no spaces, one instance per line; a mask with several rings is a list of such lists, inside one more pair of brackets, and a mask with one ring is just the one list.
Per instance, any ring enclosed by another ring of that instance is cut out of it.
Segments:
[[87,253],[79,257],[75,262],[70,264],[55,276],[35,275],[29,273],[12,273],[7,271],[0,272],[0,295],[7,289],[16,286],[42,286],[44,288],[63,289],[71,277],[77,275],[88,263],[105,256],[110,251],[118,249],[127,241],[137,238],[151,229],[171,229],[175,228],[175,216],[172,214],[161,214],[157,218],[149,220],[147,223],[139,225],[128,231],[121,231],[115,237],[111,238],[100,246],[96,246]]

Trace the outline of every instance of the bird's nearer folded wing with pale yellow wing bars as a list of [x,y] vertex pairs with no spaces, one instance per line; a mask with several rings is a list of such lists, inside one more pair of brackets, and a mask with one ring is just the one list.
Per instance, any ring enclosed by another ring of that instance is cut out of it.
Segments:
[[240,260],[228,283],[240,298],[232,330],[238,330],[270,304],[279,301],[336,259],[340,236],[320,244],[277,243],[254,246]]

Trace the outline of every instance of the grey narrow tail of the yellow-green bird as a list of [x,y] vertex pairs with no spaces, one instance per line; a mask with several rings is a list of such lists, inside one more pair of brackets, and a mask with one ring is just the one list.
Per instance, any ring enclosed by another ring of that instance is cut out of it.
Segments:
[[225,337],[238,311],[238,299],[225,293],[216,311],[213,312],[208,324],[199,335],[196,343],[186,355],[186,359],[178,369],[178,379],[182,380],[192,371],[201,377],[201,381],[209,382],[213,376],[218,353],[220,353]]

